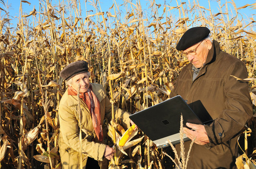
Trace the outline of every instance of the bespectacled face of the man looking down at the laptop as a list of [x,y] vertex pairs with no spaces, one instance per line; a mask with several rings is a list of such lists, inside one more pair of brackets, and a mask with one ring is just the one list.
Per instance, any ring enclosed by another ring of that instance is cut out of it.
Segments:
[[[189,48],[187,48],[184,53],[187,54],[187,59],[195,66],[195,68],[202,68],[203,64],[206,63],[206,57],[208,55],[209,47],[208,47],[208,42],[209,40],[203,40],[202,43],[197,43]],[[196,49],[196,55],[190,55],[189,51],[193,51]]]

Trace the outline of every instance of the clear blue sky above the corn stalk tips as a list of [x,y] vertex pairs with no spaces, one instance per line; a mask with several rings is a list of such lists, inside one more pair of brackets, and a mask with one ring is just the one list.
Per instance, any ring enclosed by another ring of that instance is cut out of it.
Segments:
[[[91,1],[93,1],[93,0],[91,0]],[[148,6],[150,6],[151,1],[150,0],[147,0],[147,1],[140,0],[142,10],[146,10],[148,8]],[[186,5],[189,5],[189,2],[192,4],[194,1],[197,1],[197,0],[190,0],[190,1],[189,0],[183,0],[182,2],[186,2]],[[221,5],[223,5],[223,3],[225,3],[226,1],[231,2],[231,0],[221,0],[220,1]],[[234,3],[236,3],[237,8],[245,6],[246,4],[251,5],[253,3],[256,3],[256,1],[254,1],[254,0],[233,0],[233,1],[234,1]],[[11,23],[15,24],[18,21],[18,17],[20,15],[19,14],[20,0],[3,0],[3,2],[5,2],[5,4],[9,6],[8,12],[10,14],[10,19],[12,19]],[[29,12],[31,12],[34,7],[35,7],[36,11],[39,12],[40,11],[39,2],[45,3],[42,0],[41,1],[39,1],[39,0],[38,1],[37,0],[27,0],[27,2],[31,3],[31,5],[29,5],[28,3],[25,3],[25,2],[22,3],[23,14],[24,13],[29,14]],[[52,0],[50,2],[52,2],[52,5],[54,5],[54,4],[58,4],[59,0]],[[65,1],[65,2],[67,2],[67,1]],[[121,1],[121,0],[116,0],[116,2],[117,2],[118,5],[123,4],[123,1]],[[172,1],[155,0],[155,2],[156,2],[157,5],[161,4],[161,7],[158,9],[159,13],[163,12],[164,2],[165,2],[165,5],[167,5],[167,6],[171,6],[171,7],[176,7],[177,6],[177,2],[173,1],[173,0]],[[180,2],[181,1],[178,1],[179,5],[180,5]],[[203,6],[205,8],[209,8],[208,0],[198,0],[198,2],[199,2],[200,6]],[[93,10],[93,12],[91,12],[90,14],[93,14],[93,13],[96,12],[95,8],[92,7],[91,5],[89,5],[90,3],[91,2],[87,1],[87,4],[85,5],[84,0],[80,1],[81,7],[82,7],[82,15],[86,16],[86,12],[85,12],[86,7],[87,7],[87,11]],[[133,3],[136,3],[136,1],[133,1]],[[233,10],[231,3],[228,3],[228,4],[229,4],[229,10]],[[112,0],[100,0],[100,6],[101,6],[101,8],[104,12],[109,11],[109,8],[112,5],[113,5]],[[220,7],[217,3],[217,0],[210,0],[210,5],[211,5],[211,9],[212,9],[213,14],[217,14],[220,11],[219,10]],[[2,9],[6,10],[6,7],[3,6],[2,3],[0,3],[0,7]],[[124,6],[120,6],[120,10],[122,10],[123,12],[126,11]],[[225,10],[225,7],[222,7],[222,10]],[[175,11],[175,10],[172,10],[172,11]],[[112,11],[110,11],[110,12],[113,14],[113,8],[112,8]],[[177,10],[176,10],[176,12],[177,12]],[[249,19],[250,17],[253,17],[254,20],[256,20],[255,19],[255,17],[256,17],[256,5],[255,5],[255,9],[247,7],[247,8],[239,10],[238,12],[241,14],[240,17],[243,17],[244,20],[250,20]],[[1,14],[1,19],[3,19],[3,16],[5,15],[5,12],[1,10],[0,14]]]

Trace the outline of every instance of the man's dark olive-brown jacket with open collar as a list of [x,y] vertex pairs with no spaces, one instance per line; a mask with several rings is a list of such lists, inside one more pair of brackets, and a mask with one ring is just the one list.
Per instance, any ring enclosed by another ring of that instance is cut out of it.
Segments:
[[[214,121],[204,125],[210,144],[193,145],[189,168],[233,168],[237,157],[237,138],[253,113],[246,81],[246,66],[220,50],[214,41],[197,78],[192,64],[182,68],[170,96],[181,95],[195,113],[204,111]],[[186,143],[187,150],[189,143]]]

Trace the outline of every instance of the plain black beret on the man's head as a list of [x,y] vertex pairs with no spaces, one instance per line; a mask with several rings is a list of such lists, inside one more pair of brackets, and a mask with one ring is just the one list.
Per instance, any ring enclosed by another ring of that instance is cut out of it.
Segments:
[[184,51],[187,48],[207,38],[209,33],[210,33],[210,30],[206,27],[190,28],[182,35],[180,41],[176,46],[176,49],[178,51]]

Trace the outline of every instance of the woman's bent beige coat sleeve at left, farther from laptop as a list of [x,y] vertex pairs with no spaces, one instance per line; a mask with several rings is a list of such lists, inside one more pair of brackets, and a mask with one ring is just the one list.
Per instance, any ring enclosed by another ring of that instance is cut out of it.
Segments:
[[[80,153],[79,123],[71,109],[70,106],[63,104],[59,106],[60,131],[63,136],[63,141],[69,145],[70,148]],[[105,144],[95,143],[87,139],[82,140],[82,153],[87,154],[97,161],[103,161],[105,148]]]

